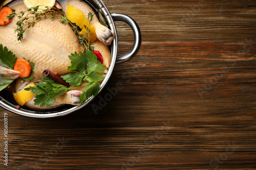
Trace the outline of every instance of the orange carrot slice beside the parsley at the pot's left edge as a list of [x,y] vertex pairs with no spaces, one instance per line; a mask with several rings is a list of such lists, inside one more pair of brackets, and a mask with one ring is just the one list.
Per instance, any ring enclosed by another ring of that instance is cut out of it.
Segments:
[[31,65],[29,61],[25,59],[17,59],[13,69],[15,71],[20,72],[20,75],[19,75],[20,78],[29,77],[29,75],[31,74]]

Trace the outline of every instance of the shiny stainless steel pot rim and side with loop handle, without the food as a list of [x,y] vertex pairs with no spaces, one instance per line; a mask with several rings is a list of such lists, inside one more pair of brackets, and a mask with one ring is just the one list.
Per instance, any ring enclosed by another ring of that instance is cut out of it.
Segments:
[[[12,1],[0,0],[0,4],[1,4],[0,8],[2,8],[4,4],[7,4],[9,2],[12,2]],[[98,12],[103,16],[107,25],[109,26],[109,29],[111,29],[113,31],[113,33],[115,34],[115,38],[110,45],[111,65],[109,67],[108,74],[106,74],[105,79],[103,80],[103,82],[100,85],[100,90],[98,92],[98,94],[99,94],[102,91],[102,89],[104,88],[104,86],[106,85],[106,83],[109,81],[109,79],[112,75],[113,69],[115,67],[115,64],[121,64],[126,61],[129,61],[138,53],[140,45],[141,45],[141,33],[140,33],[140,29],[139,29],[139,26],[137,25],[136,21],[134,19],[132,19],[131,17],[129,17],[127,15],[123,15],[123,14],[118,14],[118,13],[110,13],[108,8],[105,6],[103,1],[101,1],[101,0],[88,0],[87,2],[92,5],[92,7],[95,9],[96,13]],[[133,44],[131,51],[123,56],[120,56],[120,57],[117,57],[117,55],[118,55],[118,37],[117,37],[117,31],[116,31],[116,26],[115,26],[114,21],[126,22],[132,28],[133,33],[134,33],[134,44]],[[80,104],[77,106],[65,105],[65,106],[50,110],[50,111],[37,111],[37,110],[30,110],[30,109],[23,109],[23,108],[18,109],[17,105],[13,105],[11,103],[10,99],[8,99],[8,97],[6,95],[1,94],[0,106],[5,108],[6,110],[9,110],[10,112],[13,112],[13,113],[16,113],[19,115],[24,115],[24,116],[28,116],[28,117],[36,117],[36,118],[49,118],[49,117],[58,117],[58,116],[67,115],[76,110],[79,110],[82,107],[89,104],[95,97],[96,96],[92,96],[90,99],[87,100],[86,103]]]

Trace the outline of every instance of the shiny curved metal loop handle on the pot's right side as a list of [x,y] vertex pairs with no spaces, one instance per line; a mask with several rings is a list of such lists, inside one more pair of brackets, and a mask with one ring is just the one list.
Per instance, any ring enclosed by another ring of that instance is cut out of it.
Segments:
[[130,16],[123,15],[123,14],[117,14],[117,13],[112,13],[111,15],[112,15],[113,20],[123,21],[123,22],[127,23],[132,28],[133,34],[134,34],[134,43],[133,43],[132,50],[130,50],[130,52],[128,52],[127,54],[125,54],[121,57],[118,57],[116,60],[116,64],[121,64],[121,63],[131,60],[139,52],[140,45],[141,45],[140,28],[139,28],[138,24],[136,23],[136,21],[133,18],[131,18]]

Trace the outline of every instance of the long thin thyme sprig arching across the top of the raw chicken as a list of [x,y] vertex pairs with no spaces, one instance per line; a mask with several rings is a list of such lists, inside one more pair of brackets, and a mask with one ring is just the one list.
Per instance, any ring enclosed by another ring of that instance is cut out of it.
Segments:
[[[36,7],[29,8],[26,11],[21,11],[18,13],[16,13],[14,9],[12,9],[12,11],[13,13],[8,16],[8,19],[11,20],[15,16],[17,16],[19,19],[16,23],[17,29],[14,31],[14,33],[17,33],[18,41],[22,41],[25,31],[30,27],[34,27],[36,22],[39,22],[40,20],[44,20],[47,18],[50,18],[52,20],[56,18],[56,19],[59,19],[59,22],[63,23],[64,25],[70,24],[72,30],[78,37],[79,43],[82,44],[84,48],[86,48],[86,50],[88,50],[89,48],[91,49],[89,26],[88,28],[86,27],[88,33],[84,36],[80,35],[79,27],[77,27],[74,23],[72,23],[67,18],[65,12],[55,7],[49,8],[46,6],[45,9],[40,9],[39,6],[36,6]],[[89,12],[88,21],[90,22],[92,18],[93,18],[93,14]],[[87,36],[89,37],[88,41],[86,39]]]

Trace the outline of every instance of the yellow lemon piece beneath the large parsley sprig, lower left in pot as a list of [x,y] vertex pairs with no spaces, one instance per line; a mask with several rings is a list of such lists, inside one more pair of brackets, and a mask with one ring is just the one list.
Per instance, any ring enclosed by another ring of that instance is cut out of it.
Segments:
[[25,90],[25,88],[28,88],[28,87],[31,87],[31,86],[35,86],[35,84],[30,83],[29,85],[24,87],[23,90],[21,90],[17,93],[13,93],[13,97],[14,97],[15,101],[18,103],[19,106],[23,106],[26,102],[31,100],[33,98],[33,96],[35,95],[34,93],[32,93],[32,91]]

